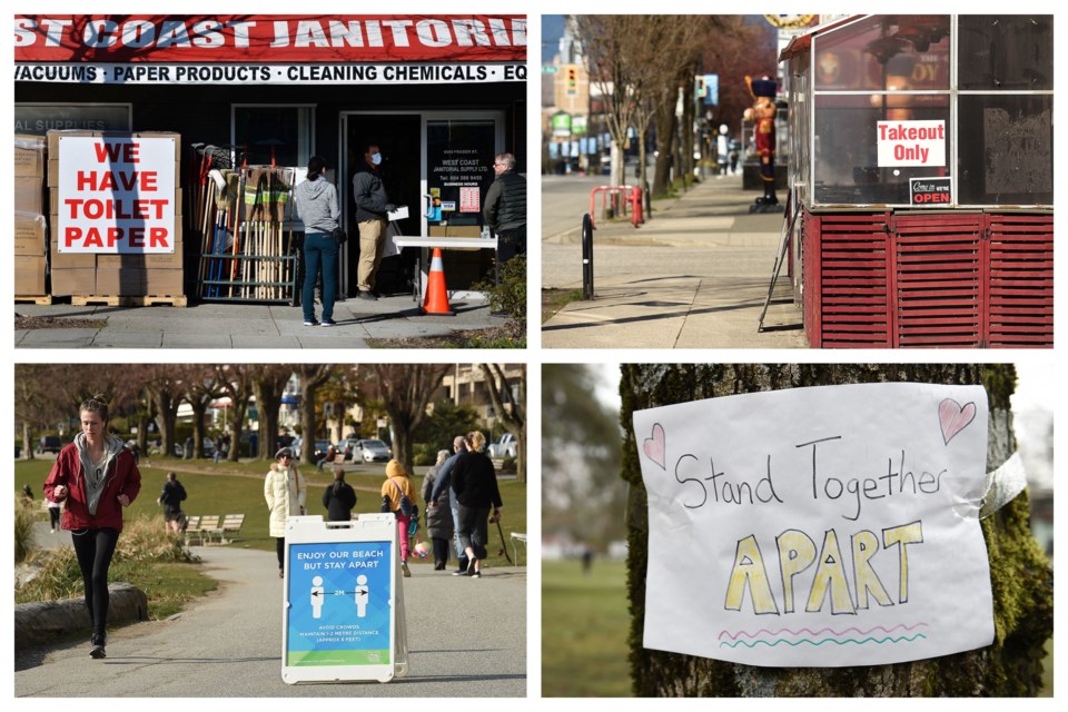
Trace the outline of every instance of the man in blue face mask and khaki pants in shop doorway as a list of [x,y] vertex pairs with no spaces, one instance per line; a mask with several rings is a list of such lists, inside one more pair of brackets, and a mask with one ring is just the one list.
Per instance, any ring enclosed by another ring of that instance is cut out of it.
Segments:
[[386,226],[389,224],[386,212],[395,210],[389,202],[386,188],[382,185],[378,169],[382,154],[377,144],[368,144],[364,150],[364,162],[353,176],[353,195],[356,198],[356,222],[359,225],[359,267],[356,270],[358,299],[376,300],[375,277],[382,261],[382,249],[386,244]]

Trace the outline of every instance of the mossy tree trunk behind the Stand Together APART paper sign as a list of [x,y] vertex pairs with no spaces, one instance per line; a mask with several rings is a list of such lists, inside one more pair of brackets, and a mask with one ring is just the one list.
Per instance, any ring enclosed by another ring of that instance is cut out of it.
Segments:
[[1011,365],[624,365],[620,393],[627,535],[631,678],[644,696],[1020,696],[1041,688],[1044,644],[1052,635],[1052,570],[1030,534],[1025,491],[982,521],[990,561],[995,641],[986,649],[892,665],[755,668],[642,647],[647,510],[631,415],[643,408],[801,386],[921,382],[982,384],[990,403],[987,468],[1016,449]]

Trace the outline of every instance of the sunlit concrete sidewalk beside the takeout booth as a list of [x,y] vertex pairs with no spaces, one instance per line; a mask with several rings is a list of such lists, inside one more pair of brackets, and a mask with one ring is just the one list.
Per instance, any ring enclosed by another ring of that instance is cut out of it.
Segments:
[[[594,293],[542,326],[546,348],[804,348],[783,267],[758,333],[782,214],[750,215],[741,176],[710,176],[653,204],[640,228],[594,230]],[[783,199],[784,196],[780,196]],[[576,225],[581,225],[576,217]],[[599,217],[599,216],[595,216]],[[582,289],[580,229],[542,241],[543,287]]]

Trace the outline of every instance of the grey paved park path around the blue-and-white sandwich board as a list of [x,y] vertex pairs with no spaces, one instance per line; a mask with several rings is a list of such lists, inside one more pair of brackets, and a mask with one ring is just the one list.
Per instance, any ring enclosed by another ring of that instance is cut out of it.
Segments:
[[[50,536],[47,528],[43,536]],[[69,540],[69,534],[51,535]],[[482,578],[413,564],[404,580],[408,675],[387,684],[287,685],[273,552],[191,547],[217,591],[166,621],[112,630],[108,657],[85,641],[17,651],[16,696],[525,696],[526,568]]]

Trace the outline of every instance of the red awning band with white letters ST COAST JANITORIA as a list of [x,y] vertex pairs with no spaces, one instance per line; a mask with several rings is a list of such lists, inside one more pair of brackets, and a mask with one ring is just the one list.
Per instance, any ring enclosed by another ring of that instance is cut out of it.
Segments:
[[525,61],[525,16],[21,16],[16,62]]

